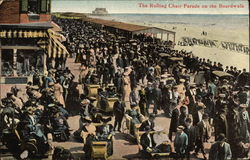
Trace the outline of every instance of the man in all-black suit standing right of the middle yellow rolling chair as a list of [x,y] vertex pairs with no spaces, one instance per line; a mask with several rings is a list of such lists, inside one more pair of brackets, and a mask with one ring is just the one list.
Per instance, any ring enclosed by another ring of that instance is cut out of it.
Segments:
[[122,101],[122,96],[119,95],[119,99],[114,103],[113,112],[115,116],[114,130],[118,125],[118,131],[121,131],[122,119],[125,113],[125,103]]

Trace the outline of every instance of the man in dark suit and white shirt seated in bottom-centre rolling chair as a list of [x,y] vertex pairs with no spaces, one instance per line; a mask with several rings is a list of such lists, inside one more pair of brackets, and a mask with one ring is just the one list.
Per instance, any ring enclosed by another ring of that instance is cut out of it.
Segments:
[[143,157],[150,157],[150,153],[153,152],[156,143],[153,138],[153,133],[150,133],[151,129],[149,126],[145,128],[146,132],[141,136],[141,147]]

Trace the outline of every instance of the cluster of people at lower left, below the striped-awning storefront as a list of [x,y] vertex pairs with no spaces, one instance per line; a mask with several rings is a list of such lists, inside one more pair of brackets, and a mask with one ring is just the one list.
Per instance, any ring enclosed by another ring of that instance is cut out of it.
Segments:
[[74,75],[68,68],[34,74],[25,96],[13,86],[0,102],[0,136],[2,144],[18,159],[48,155],[48,134],[55,141],[69,139],[68,111],[65,101]]

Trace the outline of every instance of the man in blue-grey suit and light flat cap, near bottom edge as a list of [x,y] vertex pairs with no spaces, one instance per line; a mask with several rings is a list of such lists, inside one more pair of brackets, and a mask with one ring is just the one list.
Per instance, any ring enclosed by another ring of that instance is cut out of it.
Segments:
[[183,126],[178,126],[177,134],[174,139],[174,148],[175,152],[177,153],[177,158],[182,159],[185,157],[188,147],[188,136],[183,130]]

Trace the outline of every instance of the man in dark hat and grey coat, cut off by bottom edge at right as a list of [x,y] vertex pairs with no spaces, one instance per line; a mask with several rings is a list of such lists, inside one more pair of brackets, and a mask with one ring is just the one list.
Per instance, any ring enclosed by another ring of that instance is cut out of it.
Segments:
[[209,160],[228,160],[232,158],[232,152],[230,144],[226,141],[225,135],[219,134],[217,138],[217,142],[215,142],[209,151]]

